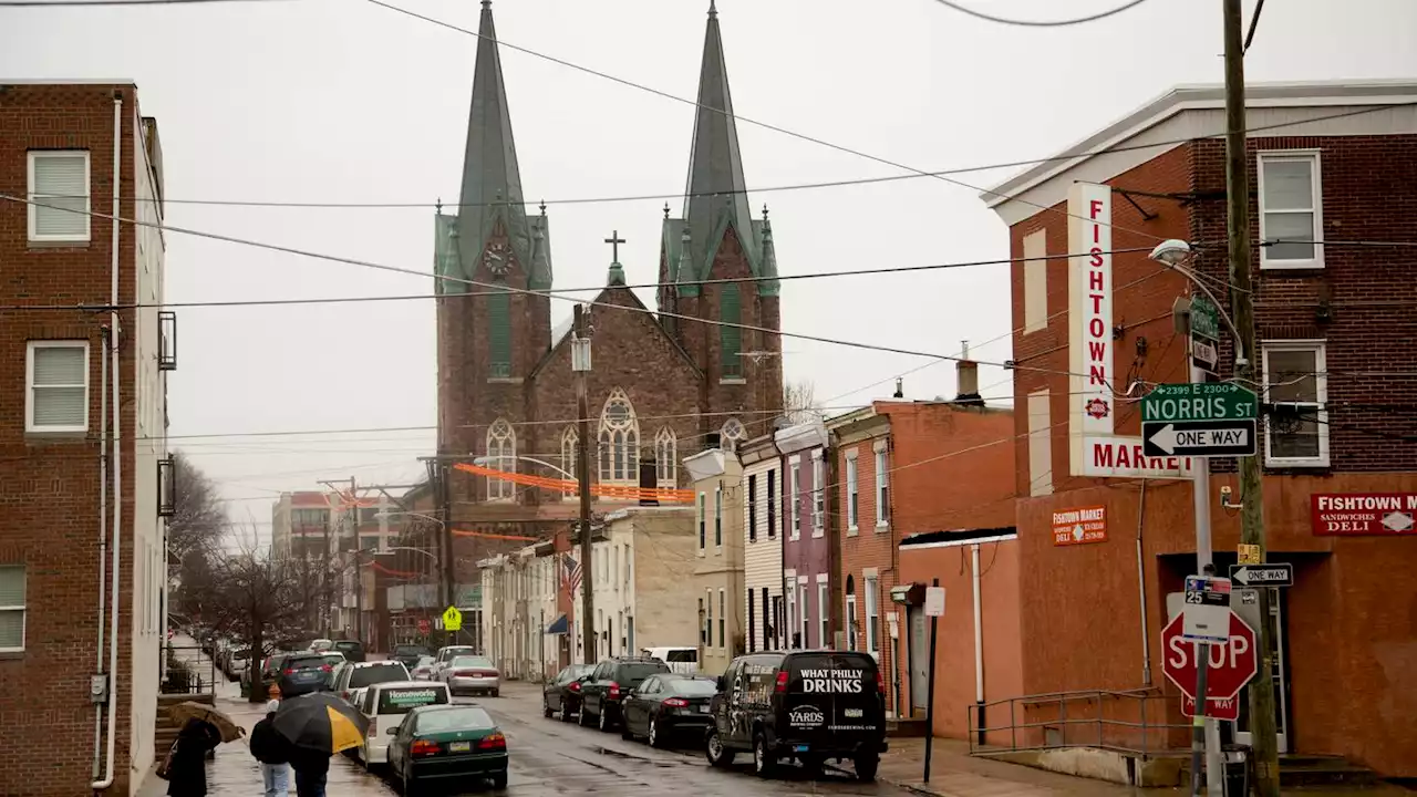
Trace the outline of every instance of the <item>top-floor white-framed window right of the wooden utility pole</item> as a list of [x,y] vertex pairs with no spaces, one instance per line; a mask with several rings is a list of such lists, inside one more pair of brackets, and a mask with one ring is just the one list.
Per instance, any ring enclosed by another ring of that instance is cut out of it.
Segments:
[[1323,268],[1322,231],[1319,155],[1260,153],[1260,265]]

